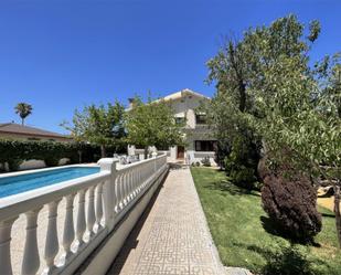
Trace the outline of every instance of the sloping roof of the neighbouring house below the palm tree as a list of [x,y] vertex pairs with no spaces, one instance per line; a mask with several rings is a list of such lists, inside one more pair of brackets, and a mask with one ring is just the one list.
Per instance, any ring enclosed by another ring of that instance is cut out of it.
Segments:
[[39,136],[39,137],[55,137],[55,138],[71,139],[70,137],[63,136],[57,133],[43,130],[43,129],[39,129],[35,127],[25,126],[25,125],[22,126],[20,124],[13,124],[13,123],[0,124],[0,135],[1,133],[24,135],[24,136],[30,135],[30,136]]

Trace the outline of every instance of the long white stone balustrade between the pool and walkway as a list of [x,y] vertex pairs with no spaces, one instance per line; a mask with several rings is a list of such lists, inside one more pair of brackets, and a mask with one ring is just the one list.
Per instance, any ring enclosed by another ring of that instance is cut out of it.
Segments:
[[[167,156],[121,168],[116,159],[100,159],[98,163],[99,173],[0,200],[0,274],[12,274],[11,229],[19,215],[26,218],[21,274],[36,274],[41,265],[44,274],[73,274],[168,168]],[[57,216],[62,199],[66,203],[60,240]],[[41,263],[36,230],[39,213],[45,205],[49,215]],[[56,258],[60,246],[64,253]]]

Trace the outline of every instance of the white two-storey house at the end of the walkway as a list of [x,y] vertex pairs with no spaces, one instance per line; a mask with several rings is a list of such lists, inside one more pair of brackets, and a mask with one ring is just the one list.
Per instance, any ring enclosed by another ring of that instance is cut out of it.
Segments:
[[[185,146],[169,148],[168,155],[170,160],[193,163],[209,157],[211,163],[213,163],[216,139],[212,136],[212,131],[205,121],[205,114],[198,112],[201,103],[210,101],[210,97],[185,88],[162,99],[171,105],[177,120],[185,121],[185,127],[183,128]],[[158,149],[160,150],[160,148]],[[134,146],[129,146],[128,154],[142,154],[142,150],[137,150]]]

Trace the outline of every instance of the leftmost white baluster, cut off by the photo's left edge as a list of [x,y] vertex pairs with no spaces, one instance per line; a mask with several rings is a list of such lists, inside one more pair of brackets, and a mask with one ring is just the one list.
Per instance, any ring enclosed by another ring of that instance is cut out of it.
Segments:
[[0,274],[12,274],[11,231],[17,218],[0,222]]

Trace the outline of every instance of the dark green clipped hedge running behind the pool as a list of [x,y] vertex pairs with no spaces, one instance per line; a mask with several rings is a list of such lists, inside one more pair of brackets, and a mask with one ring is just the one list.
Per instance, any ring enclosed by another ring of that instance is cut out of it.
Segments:
[[[106,147],[107,156],[125,151],[125,144]],[[0,163],[7,162],[11,171],[18,170],[23,160],[44,160],[52,167],[62,158],[68,158],[71,163],[94,162],[100,158],[100,147],[78,142],[0,140]]]

